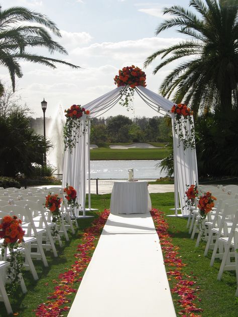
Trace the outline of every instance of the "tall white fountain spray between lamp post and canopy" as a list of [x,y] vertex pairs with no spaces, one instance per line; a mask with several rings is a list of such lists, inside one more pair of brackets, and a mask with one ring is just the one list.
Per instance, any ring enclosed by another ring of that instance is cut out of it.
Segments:
[[62,174],[64,155],[63,129],[65,116],[61,105],[59,105],[59,109],[56,113],[57,115],[52,119],[47,133],[48,138],[53,145],[47,154],[47,159],[49,164],[56,168],[55,174]]

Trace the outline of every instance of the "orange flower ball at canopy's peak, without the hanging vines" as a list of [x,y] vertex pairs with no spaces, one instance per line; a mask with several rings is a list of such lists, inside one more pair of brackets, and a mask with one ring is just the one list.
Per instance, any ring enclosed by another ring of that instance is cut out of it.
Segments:
[[134,65],[123,67],[114,77],[114,84],[117,87],[129,85],[131,88],[136,86],[146,87],[146,74],[139,67]]

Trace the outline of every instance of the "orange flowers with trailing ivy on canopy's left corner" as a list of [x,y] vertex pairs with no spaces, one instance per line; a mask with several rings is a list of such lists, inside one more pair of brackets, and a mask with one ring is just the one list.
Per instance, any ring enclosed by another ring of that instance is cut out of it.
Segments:
[[81,107],[81,105],[73,104],[67,110],[66,113],[66,123],[64,126],[64,150],[69,149],[70,153],[72,153],[73,148],[77,142],[77,134],[80,128],[81,118],[86,115],[88,116],[90,111]]

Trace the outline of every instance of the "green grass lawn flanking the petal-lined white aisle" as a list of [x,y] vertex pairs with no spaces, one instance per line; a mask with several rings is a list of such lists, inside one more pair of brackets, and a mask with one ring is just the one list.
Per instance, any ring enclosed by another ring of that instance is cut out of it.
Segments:
[[[151,199],[154,208],[163,210],[167,215],[173,214],[173,211],[170,210],[170,208],[174,207],[173,193],[151,194]],[[100,211],[108,208],[109,202],[110,194],[91,195],[92,207],[98,208]],[[97,213],[91,214],[97,217]],[[201,315],[203,317],[236,317],[238,300],[234,297],[236,289],[235,273],[227,271],[223,274],[222,280],[217,281],[216,276],[220,261],[216,260],[213,267],[209,266],[211,253],[209,253],[208,257],[203,256],[204,243],[195,248],[195,240],[191,240],[190,235],[188,235],[187,220],[175,217],[166,217],[166,220],[169,223],[169,233],[173,237],[173,244],[180,247],[179,253],[182,261],[187,264],[182,269],[183,272],[196,276],[197,285],[201,288],[198,294],[199,298],[201,298],[200,307],[204,309]],[[32,310],[39,303],[47,300],[49,292],[53,291],[55,286],[52,280],[57,280],[59,273],[63,273],[65,268],[69,268],[74,263],[75,258],[73,255],[76,252],[77,245],[81,242],[82,229],[89,226],[91,221],[92,219],[84,219],[79,222],[80,229],[77,233],[70,237],[69,242],[64,242],[62,249],[57,248],[59,250],[58,258],[53,258],[51,254],[47,254],[48,268],[43,268],[41,261],[34,261],[40,278],[39,281],[33,281],[29,272],[24,273],[28,293],[24,295],[19,290],[14,298],[10,298],[14,312],[19,312],[19,317],[34,316],[35,314]],[[170,283],[172,287],[173,278]],[[74,293],[71,294],[72,300],[74,296]],[[173,295],[173,299],[176,300],[176,295]],[[67,316],[67,314],[68,311],[62,313],[63,316]],[[0,316],[7,316],[3,302],[0,303]]]

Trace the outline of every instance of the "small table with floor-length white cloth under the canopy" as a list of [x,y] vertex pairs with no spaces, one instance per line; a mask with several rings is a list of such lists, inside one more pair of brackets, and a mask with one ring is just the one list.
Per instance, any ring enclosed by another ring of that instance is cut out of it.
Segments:
[[150,210],[147,182],[114,182],[110,201],[112,214],[144,214]]

